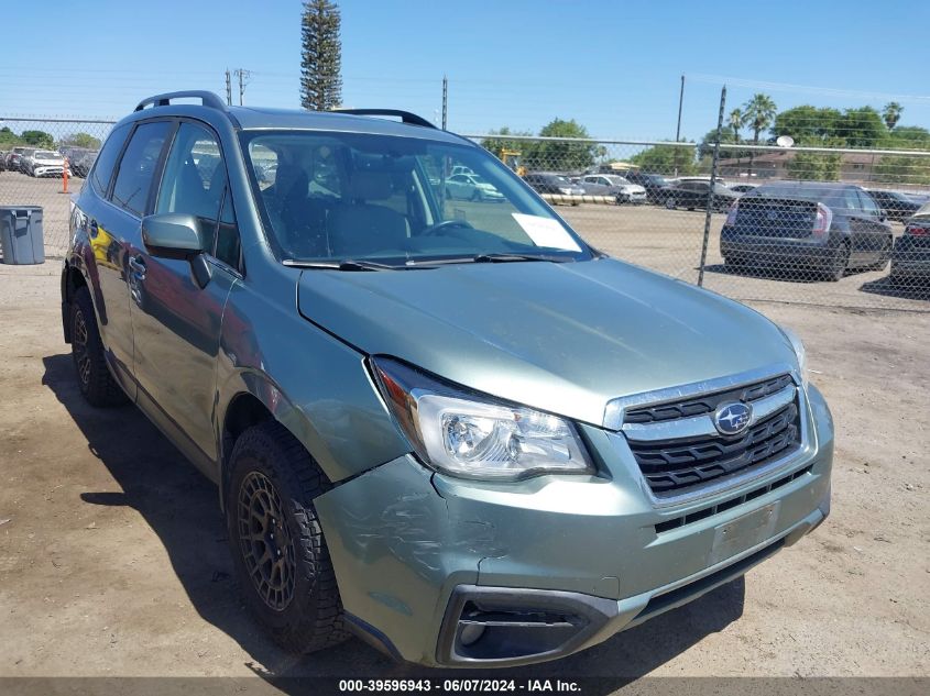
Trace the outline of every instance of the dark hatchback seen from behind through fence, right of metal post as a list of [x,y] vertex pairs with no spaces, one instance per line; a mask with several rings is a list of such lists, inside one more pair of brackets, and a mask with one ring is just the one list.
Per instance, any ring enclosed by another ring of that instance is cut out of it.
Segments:
[[764,184],[730,209],[720,251],[732,266],[812,269],[839,280],[850,269],[884,268],[891,225],[867,191],[849,184]]

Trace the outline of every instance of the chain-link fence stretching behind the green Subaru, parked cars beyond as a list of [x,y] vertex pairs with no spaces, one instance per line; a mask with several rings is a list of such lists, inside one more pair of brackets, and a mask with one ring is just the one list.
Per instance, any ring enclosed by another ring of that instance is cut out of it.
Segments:
[[[2,121],[0,206],[41,206],[61,256],[113,122]],[[930,152],[468,137],[619,258],[741,300],[930,311]]]

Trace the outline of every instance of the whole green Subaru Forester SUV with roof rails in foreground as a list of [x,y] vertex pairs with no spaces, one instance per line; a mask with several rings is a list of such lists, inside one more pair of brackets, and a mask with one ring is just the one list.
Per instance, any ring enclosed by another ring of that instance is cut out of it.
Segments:
[[[451,196],[457,167],[496,195]],[[830,510],[796,338],[598,252],[413,114],[145,99],[70,228],[81,393],[133,401],[217,483],[245,601],[287,649],[551,660]]]

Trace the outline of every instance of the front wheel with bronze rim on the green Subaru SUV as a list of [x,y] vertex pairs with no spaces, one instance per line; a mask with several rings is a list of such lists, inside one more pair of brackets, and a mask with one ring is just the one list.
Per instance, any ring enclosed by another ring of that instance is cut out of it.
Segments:
[[349,638],[314,509],[314,499],[330,488],[317,463],[281,423],[267,421],[239,437],[229,466],[227,531],[251,614],[294,653]]

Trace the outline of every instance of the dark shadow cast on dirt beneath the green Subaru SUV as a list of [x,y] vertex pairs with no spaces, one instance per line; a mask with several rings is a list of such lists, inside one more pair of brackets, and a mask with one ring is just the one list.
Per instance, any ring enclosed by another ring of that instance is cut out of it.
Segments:
[[[397,664],[354,639],[311,655],[293,655],[278,649],[265,638],[239,599],[216,487],[132,406],[95,409],[87,405],[78,390],[70,355],[50,355],[43,363],[43,385],[65,407],[87,439],[90,452],[122,489],[84,493],[81,500],[138,511],[164,544],[172,570],[194,609],[252,656],[254,662],[247,662],[247,666],[256,675],[294,693],[306,692],[304,677],[313,676],[464,676],[460,670]],[[584,691],[609,693],[724,629],[742,616],[744,596],[745,585],[740,578],[579,654],[504,673],[495,671],[490,676],[601,677],[597,686],[586,685]],[[489,676],[489,672],[483,675]]]

